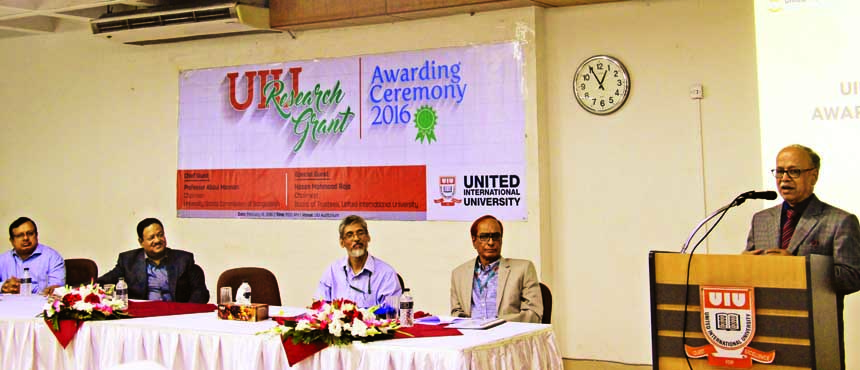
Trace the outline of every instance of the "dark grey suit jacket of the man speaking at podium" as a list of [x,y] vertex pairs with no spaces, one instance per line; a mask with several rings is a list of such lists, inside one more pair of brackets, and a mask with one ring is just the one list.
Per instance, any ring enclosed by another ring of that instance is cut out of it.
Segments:
[[[779,248],[782,205],[753,216],[746,250]],[[833,257],[836,292],[860,290],[860,224],[857,216],[824,203],[811,195],[788,251],[795,256],[822,254]]]

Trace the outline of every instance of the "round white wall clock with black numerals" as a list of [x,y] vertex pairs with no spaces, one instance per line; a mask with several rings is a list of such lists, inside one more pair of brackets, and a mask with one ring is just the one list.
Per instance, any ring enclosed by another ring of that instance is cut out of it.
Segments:
[[621,108],[630,93],[630,76],[618,59],[597,55],[576,70],[573,95],[585,110],[609,114]]

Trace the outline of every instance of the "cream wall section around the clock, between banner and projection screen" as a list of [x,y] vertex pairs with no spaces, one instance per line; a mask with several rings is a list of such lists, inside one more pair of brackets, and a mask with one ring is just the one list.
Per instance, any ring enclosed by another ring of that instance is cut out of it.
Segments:
[[[546,12],[552,261],[563,353],[650,363],[648,251],[677,251],[711,211],[761,184],[755,29],[748,1],[636,1]],[[631,75],[613,115],[580,109],[578,64]],[[705,99],[689,87],[704,85]],[[739,253],[745,204],[697,253]]]

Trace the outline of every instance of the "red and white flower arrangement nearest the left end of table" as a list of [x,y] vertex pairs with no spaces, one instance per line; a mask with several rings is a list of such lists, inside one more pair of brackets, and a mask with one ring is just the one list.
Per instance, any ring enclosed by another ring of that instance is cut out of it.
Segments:
[[112,320],[128,317],[123,302],[108,296],[98,284],[68,285],[54,289],[43,307],[42,316],[54,330],[59,330],[60,320]]

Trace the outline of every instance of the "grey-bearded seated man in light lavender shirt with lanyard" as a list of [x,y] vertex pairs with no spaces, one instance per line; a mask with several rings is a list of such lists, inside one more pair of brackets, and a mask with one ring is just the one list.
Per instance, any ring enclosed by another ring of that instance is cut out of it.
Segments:
[[340,246],[346,257],[339,258],[323,272],[316,297],[324,301],[346,298],[359,307],[382,305],[386,297],[399,296],[400,282],[391,265],[367,252],[370,232],[361,216],[347,216],[340,222]]

